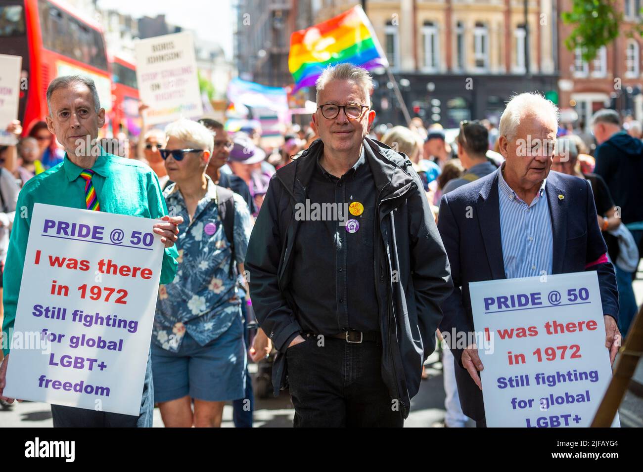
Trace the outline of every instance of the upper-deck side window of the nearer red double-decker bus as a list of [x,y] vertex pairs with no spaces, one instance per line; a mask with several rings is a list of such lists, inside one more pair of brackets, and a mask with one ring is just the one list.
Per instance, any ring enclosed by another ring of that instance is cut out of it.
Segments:
[[107,55],[100,31],[89,28],[47,0],[39,0],[38,9],[44,48],[107,71]]

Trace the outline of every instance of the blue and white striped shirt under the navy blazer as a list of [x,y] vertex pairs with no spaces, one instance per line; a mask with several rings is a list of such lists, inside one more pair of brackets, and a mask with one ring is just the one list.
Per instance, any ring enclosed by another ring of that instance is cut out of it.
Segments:
[[552,273],[554,236],[546,183],[543,180],[538,195],[527,205],[498,171],[500,239],[507,279]]

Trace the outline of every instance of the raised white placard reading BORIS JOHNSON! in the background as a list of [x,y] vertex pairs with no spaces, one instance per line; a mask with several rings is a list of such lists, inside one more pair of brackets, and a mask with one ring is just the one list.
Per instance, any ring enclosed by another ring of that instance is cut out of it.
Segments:
[[134,52],[140,99],[150,107],[145,123],[203,116],[192,33],[141,39]]

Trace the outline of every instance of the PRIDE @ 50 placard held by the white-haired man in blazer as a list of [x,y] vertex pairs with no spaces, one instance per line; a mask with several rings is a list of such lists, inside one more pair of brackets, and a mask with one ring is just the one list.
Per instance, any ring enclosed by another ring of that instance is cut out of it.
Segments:
[[596,272],[469,289],[487,426],[590,426],[611,380]]

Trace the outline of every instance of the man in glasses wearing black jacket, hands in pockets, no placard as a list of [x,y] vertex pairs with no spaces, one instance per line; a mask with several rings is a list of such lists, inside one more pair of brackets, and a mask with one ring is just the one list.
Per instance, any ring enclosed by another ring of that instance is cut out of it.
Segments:
[[316,87],[320,139],[273,176],[246,254],[275,394],[287,374],[294,426],[402,426],[453,288],[446,252],[411,162],[366,137],[367,71]]

